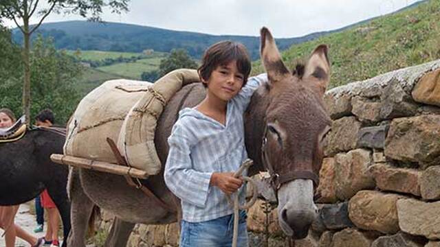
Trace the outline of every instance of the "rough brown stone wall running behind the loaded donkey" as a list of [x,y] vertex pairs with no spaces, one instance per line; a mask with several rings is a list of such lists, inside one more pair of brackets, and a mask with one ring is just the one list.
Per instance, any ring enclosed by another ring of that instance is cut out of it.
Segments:
[[[320,217],[295,246],[440,247],[440,60],[331,89],[325,104]],[[267,218],[264,208],[248,211],[251,246],[265,231],[270,246],[288,246],[276,210]],[[176,224],[137,225],[128,246],[177,241]]]

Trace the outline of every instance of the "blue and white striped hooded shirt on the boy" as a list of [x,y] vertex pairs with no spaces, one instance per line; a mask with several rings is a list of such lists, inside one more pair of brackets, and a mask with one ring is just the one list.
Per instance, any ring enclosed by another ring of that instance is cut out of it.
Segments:
[[[165,183],[181,199],[187,222],[203,222],[233,213],[233,207],[218,187],[210,186],[213,172],[235,172],[248,158],[244,142],[243,113],[250,97],[267,75],[249,78],[241,91],[228,102],[225,125],[194,108],[179,112],[168,145]],[[245,200],[239,190],[241,204]]]

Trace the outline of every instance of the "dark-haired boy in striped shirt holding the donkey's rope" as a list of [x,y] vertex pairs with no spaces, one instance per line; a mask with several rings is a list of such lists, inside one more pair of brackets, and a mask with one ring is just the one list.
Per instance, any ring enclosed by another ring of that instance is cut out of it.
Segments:
[[[231,246],[233,207],[225,194],[245,199],[243,180],[234,172],[248,158],[243,112],[252,93],[267,81],[250,78],[250,59],[239,43],[223,41],[203,55],[198,69],[206,97],[179,112],[168,138],[166,185],[181,199],[181,247]],[[247,82],[248,81],[248,82]],[[240,212],[238,246],[248,246],[245,211]]]

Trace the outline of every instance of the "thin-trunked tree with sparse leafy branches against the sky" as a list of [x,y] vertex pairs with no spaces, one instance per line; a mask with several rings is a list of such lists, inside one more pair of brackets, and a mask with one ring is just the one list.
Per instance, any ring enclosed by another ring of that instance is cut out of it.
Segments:
[[[129,0],[46,0],[48,8],[38,10],[43,5],[40,0],[1,0],[0,1],[0,18],[6,18],[14,21],[21,33],[23,34],[23,112],[26,119],[30,119],[30,36],[37,30],[44,19],[51,12],[64,12],[65,14],[80,14],[87,17],[90,21],[100,21],[102,7],[109,6],[113,12],[121,12],[128,10],[127,4]],[[34,14],[40,14],[38,24],[30,26],[30,18]],[[19,20],[23,25],[19,25]]]

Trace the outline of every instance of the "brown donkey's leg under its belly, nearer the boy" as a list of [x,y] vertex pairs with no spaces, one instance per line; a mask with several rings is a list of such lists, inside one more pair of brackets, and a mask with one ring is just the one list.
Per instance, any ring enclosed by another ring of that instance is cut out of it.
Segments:
[[113,224],[111,224],[111,230],[104,247],[126,246],[126,242],[129,240],[131,230],[133,230],[134,226],[134,223],[124,222],[118,217],[114,217]]

